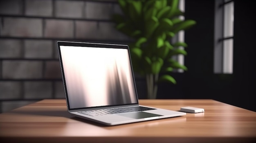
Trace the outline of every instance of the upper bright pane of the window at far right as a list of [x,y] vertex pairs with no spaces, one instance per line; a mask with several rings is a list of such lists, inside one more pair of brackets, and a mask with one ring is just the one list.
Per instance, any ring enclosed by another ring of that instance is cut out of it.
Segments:
[[234,31],[234,2],[224,6],[224,37],[233,36]]

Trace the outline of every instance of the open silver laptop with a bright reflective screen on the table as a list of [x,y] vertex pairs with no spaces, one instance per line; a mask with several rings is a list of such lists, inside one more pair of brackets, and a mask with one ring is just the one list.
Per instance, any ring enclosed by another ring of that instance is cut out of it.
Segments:
[[105,125],[186,115],[139,105],[128,45],[57,44],[70,114]]

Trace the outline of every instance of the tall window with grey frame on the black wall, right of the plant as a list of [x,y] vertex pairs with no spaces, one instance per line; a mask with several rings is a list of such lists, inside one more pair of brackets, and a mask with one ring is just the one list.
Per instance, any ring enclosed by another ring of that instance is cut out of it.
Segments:
[[234,0],[215,0],[214,73],[233,73]]

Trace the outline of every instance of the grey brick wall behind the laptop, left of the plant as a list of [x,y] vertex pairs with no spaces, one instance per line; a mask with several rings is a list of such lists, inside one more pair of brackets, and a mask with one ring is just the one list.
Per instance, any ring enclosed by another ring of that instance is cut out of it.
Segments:
[[115,0],[1,0],[0,112],[65,98],[56,41],[127,43]]

